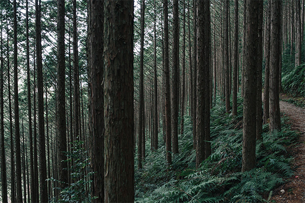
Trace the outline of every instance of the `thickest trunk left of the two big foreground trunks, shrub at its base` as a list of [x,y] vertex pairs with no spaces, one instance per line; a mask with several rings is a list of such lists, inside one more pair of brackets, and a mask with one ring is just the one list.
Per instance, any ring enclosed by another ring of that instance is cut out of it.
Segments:
[[59,187],[68,183],[66,141],[66,97],[65,97],[65,1],[57,0],[57,153]]

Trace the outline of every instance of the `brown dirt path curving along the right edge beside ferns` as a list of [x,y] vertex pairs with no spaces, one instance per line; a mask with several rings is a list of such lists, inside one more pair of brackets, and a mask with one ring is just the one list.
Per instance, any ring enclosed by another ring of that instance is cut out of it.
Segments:
[[281,98],[281,113],[289,117],[292,129],[299,133],[299,138],[296,144],[288,147],[288,153],[294,157],[292,169],[295,174],[273,191],[271,202],[305,202],[305,108],[283,101],[288,98],[287,95]]

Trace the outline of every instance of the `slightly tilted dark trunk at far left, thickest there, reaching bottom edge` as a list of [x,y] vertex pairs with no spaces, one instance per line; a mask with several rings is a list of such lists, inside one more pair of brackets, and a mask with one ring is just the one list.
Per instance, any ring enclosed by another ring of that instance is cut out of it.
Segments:
[[41,1],[35,1],[36,7],[36,57],[37,57],[37,86],[38,86],[38,129],[39,129],[39,178],[40,201],[48,201],[47,164],[44,131],[44,101],[41,50]]

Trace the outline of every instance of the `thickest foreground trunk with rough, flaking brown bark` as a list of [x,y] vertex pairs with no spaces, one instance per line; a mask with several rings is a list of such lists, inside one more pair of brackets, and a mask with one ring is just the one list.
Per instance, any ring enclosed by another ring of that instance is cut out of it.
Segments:
[[133,1],[105,1],[104,15],[105,202],[133,202]]

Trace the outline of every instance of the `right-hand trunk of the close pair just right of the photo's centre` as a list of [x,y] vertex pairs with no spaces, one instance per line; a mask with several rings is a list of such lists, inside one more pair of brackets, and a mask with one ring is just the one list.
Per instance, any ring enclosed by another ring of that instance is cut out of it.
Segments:
[[172,62],[172,83],[171,83],[171,92],[172,92],[172,144],[173,144],[173,153],[179,153],[178,150],[178,106],[179,106],[179,87],[178,87],[178,78],[179,78],[179,9],[178,9],[178,0],[173,0],[173,62]]

